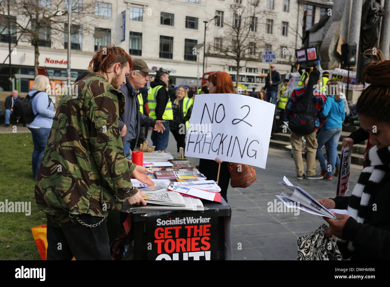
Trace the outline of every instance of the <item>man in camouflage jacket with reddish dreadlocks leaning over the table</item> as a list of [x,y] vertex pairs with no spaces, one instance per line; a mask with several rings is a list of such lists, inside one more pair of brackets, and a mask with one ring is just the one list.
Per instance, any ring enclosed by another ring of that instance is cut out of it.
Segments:
[[130,71],[126,61],[112,64],[112,72],[90,73],[58,103],[35,185],[38,209],[48,218],[48,259],[111,259],[108,210],[121,209],[123,200],[146,204],[130,176],[153,183],[145,168],[126,159],[118,125],[125,101],[118,88]]

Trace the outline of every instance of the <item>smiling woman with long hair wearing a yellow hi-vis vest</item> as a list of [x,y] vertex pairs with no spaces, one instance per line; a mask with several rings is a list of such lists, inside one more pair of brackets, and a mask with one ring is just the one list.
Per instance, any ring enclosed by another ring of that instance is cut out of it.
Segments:
[[176,99],[172,103],[173,120],[169,121],[169,129],[176,139],[177,152],[186,147],[186,130],[188,130],[191,118],[193,100],[188,98],[187,90],[179,86]]

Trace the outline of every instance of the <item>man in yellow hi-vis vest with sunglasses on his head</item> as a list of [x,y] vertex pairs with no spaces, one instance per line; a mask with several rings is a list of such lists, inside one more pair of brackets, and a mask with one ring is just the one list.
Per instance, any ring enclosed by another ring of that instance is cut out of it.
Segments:
[[172,102],[170,101],[167,90],[169,83],[169,71],[160,68],[156,72],[156,78],[151,82],[151,89],[148,91],[147,102],[149,106],[149,117],[162,120],[165,132],[158,133],[153,130],[151,139],[155,150],[166,150],[169,140],[169,122],[173,119]]

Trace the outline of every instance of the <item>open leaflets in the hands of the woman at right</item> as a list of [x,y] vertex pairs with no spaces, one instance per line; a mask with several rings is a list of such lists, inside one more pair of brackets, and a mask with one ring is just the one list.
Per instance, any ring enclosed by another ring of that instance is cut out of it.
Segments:
[[328,209],[323,207],[323,205],[321,205],[317,200],[315,200],[310,194],[304,191],[301,187],[294,186],[293,184],[291,184],[287,177],[284,176],[283,180],[284,182],[279,182],[279,184],[284,185],[288,189],[291,189],[293,193],[282,193],[282,196],[285,196],[295,202],[299,202],[300,205],[303,205],[308,209],[312,209],[313,211],[320,213],[322,216],[327,216],[332,219],[338,219]]

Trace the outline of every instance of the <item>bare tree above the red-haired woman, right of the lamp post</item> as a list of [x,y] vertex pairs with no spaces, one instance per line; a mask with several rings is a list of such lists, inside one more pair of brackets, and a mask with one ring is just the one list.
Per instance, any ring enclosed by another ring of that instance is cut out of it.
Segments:
[[[238,3],[237,3],[238,2]],[[236,83],[239,82],[239,71],[246,66],[248,61],[260,61],[260,48],[264,47],[265,41],[260,37],[259,18],[263,13],[260,8],[260,0],[251,0],[248,6],[240,4],[241,1],[233,1],[230,10],[225,13],[232,14],[232,18],[217,19],[217,26],[223,29],[214,31],[216,39],[209,43],[209,57],[221,57],[234,60],[236,63]],[[219,32],[219,33],[218,33]],[[245,64],[241,62],[245,61]],[[238,84],[236,84],[238,87]]]

